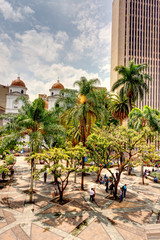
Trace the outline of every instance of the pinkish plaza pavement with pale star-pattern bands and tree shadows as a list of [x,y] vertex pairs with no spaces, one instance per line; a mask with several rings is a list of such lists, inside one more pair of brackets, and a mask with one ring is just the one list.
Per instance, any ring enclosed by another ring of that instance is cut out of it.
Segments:
[[[106,170],[104,170],[103,174]],[[54,186],[49,176],[35,182],[34,204],[28,204],[29,166],[17,158],[13,182],[0,190],[0,240],[153,240],[160,239],[160,184],[138,176],[122,176],[127,197],[119,203],[109,198],[103,185],[95,184],[94,175],[85,177],[80,191],[71,182],[65,191],[69,202],[63,206],[51,201]],[[138,174],[138,172],[137,172]],[[89,201],[89,189],[96,188],[96,203]]]

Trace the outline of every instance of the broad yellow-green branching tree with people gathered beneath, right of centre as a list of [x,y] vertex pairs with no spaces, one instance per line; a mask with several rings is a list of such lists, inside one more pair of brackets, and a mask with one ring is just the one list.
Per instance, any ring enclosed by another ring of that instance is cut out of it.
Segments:
[[[140,149],[146,145],[145,134],[145,131],[137,134],[137,131],[124,126],[114,127],[114,129],[110,127],[91,134],[87,140],[87,149],[90,155],[93,156],[92,160],[95,162],[95,166],[101,171],[105,164],[113,178],[115,198],[117,197],[117,189],[123,170],[127,166],[130,169]],[[118,177],[110,168],[113,159],[116,161],[113,164],[118,165]]]

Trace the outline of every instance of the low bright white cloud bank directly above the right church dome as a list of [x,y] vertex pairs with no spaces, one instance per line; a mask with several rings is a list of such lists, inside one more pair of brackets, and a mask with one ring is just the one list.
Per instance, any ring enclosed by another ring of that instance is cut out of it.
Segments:
[[63,64],[53,64],[51,66],[42,65],[34,69],[34,77],[27,79],[24,75],[22,78],[28,88],[30,99],[38,97],[38,93],[50,95],[49,89],[57,82],[57,79],[64,85],[65,88],[73,89],[73,83],[80,80],[82,76],[87,79],[98,78],[98,74],[87,73],[83,69],[75,69],[72,66]]

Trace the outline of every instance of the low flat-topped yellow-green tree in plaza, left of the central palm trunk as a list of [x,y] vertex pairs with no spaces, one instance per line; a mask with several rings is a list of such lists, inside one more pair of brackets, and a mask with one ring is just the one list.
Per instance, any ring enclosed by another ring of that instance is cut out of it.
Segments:
[[45,162],[44,167],[35,173],[36,177],[46,169],[48,169],[49,173],[54,174],[60,195],[60,202],[63,202],[63,193],[68,185],[69,175],[78,169],[78,165],[75,165],[72,160],[80,159],[84,151],[85,148],[81,145],[72,147],[69,144],[66,150],[52,148],[33,155],[35,160],[43,160]]

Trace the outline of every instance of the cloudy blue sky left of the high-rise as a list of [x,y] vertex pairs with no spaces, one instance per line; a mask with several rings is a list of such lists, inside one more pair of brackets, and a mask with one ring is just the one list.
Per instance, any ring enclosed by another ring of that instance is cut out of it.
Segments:
[[110,90],[112,0],[0,0],[0,84],[30,99],[82,76]]

